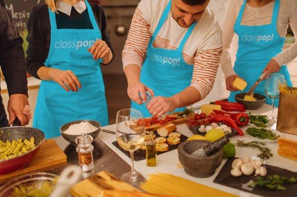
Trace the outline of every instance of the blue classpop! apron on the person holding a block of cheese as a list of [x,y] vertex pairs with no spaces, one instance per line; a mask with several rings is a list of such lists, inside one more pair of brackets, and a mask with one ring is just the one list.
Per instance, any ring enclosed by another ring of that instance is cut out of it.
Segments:
[[[234,65],[235,73],[247,81],[247,87],[243,91],[231,92],[230,102],[235,102],[235,95],[247,92],[254,82],[259,79],[268,62],[275,55],[282,52],[285,38],[281,38],[277,32],[277,18],[280,7],[280,0],[275,0],[271,23],[261,26],[241,25],[242,16],[247,0],[244,1],[234,25],[234,32],[238,35],[238,50]],[[280,74],[285,76],[287,84],[292,86],[287,66],[281,66]],[[265,82],[263,80],[254,90],[255,93],[265,95]],[[275,101],[278,106],[279,100]],[[266,103],[272,104],[272,100],[266,96]]]

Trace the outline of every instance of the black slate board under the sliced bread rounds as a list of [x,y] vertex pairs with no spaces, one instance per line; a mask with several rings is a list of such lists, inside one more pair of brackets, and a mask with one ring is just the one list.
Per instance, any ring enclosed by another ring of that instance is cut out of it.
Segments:
[[[178,131],[176,131],[178,132]],[[156,135],[156,137],[161,137],[157,131],[153,131],[153,133]],[[181,143],[184,142],[184,141],[187,141],[188,137],[181,134]],[[124,149],[122,149],[119,144],[117,143],[117,141],[115,142],[112,142],[113,146],[115,146],[116,148],[118,148],[121,152],[123,152],[126,156],[128,156],[130,158],[130,153],[129,151],[125,151]],[[180,144],[176,144],[176,145],[168,145],[168,148],[169,150],[168,151],[172,151],[172,150],[175,150],[178,148]],[[164,151],[164,152],[158,152],[157,151],[157,155],[160,155],[160,154],[163,154],[163,153],[166,153],[168,151]],[[137,150],[134,152],[134,160],[135,161],[140,161],[140,160],[144,160],[146,159],[146,150]]]

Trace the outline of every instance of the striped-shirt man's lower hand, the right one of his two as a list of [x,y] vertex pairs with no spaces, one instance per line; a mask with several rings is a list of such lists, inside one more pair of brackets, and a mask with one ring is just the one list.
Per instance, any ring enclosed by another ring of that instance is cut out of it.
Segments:
[[172,97],[157,96],[148,103],[148,111],[152,116],[160,117],[177,108],[177,101]]

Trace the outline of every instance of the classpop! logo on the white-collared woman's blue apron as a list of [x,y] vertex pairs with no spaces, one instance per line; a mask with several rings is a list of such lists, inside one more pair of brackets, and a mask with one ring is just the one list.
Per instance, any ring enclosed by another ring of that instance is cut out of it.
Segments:
[[[98,38],[96,40],[98,40]],[[62,40],[62,39],[60,39],[59,41],[54,43],[54,47],[56,49],[58,49],[58,48],[75,48],[76,50],[78,50],[80,47],[91,48],[96,40],[94,40],[94,39],[92,39],[92,40]]]

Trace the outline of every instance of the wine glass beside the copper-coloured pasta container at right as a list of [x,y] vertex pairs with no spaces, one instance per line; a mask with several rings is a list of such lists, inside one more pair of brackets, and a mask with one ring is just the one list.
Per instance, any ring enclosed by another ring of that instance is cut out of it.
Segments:
[[279,84],[285,84],[285,76],[279,73],[272,73],[268,75],[265,83],[265,93],[272,99],[272,110],[269,117],[271,122],[276,122],[277,119],[273,116],[274,102],[280,97]]

